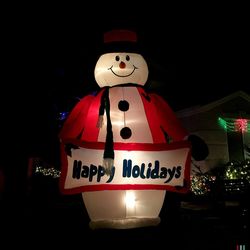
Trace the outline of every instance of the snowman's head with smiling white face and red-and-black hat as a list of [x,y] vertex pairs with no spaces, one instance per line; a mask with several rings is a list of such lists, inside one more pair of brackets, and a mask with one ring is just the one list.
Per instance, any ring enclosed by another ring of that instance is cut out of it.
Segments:
[[133,31],[113,30],[104,34],[105,53],[97,60],[94,76],[97,84],[112,87],[121,84],[144,85],[148,65],[138,52],[137,35]]

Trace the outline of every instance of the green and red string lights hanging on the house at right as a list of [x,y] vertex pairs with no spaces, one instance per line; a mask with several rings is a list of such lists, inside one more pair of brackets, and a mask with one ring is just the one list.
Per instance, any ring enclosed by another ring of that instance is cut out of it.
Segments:
[[226,131],[242,133],[250,132],[250,121],[248,119],[232,119],[219,117],[218,121],[220,126],[223,127]]

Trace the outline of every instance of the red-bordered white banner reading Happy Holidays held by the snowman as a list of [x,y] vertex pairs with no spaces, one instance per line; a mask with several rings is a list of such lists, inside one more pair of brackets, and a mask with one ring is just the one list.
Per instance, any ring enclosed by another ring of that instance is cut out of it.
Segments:
[[[103,143],[81,143],[66,150],[62,144],[63,193],[97,190],[166,189],[185,192],[189,187],[190,144],[115,144],[110,175],[102,167]],[[72,144],[71,144],[72,145]],[[124,149],[124,147],[126,149]],[[136,149],[135,149],[136,148]]]

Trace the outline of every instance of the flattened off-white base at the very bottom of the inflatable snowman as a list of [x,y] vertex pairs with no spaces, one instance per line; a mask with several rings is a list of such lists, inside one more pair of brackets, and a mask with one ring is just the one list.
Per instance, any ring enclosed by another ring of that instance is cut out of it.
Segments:
[[100,228],[129,229],[138,227],[157,226],[160,222],[161,222],[160,217],[98,220],[98,221],[90,221],[89,227],[93,230]]

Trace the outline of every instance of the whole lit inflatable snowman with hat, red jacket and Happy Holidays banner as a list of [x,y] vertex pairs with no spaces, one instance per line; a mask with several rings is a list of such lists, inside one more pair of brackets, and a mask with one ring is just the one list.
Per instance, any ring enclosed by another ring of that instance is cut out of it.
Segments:
[[83,97],[60,132],[61,190],[82,193],[91,228],[159,224],[166,190],[188,190],[187,132],[157,94],[133,31],[104,34],[94,76],[100,91]]

